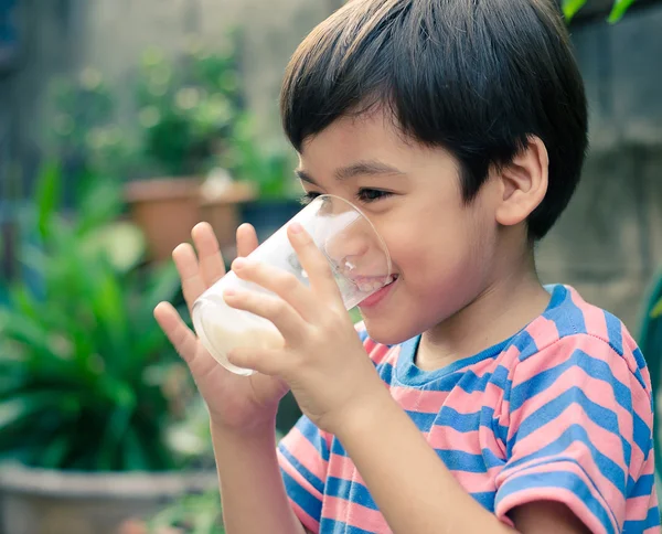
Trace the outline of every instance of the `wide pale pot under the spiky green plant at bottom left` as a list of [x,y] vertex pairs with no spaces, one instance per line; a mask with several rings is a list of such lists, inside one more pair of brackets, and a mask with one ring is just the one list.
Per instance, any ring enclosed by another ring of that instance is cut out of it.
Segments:
[[173,499],[216,484],[216,473],[210,471],[79,473],[4,466],[1,532],[118,534],[129,520],[151,516]]

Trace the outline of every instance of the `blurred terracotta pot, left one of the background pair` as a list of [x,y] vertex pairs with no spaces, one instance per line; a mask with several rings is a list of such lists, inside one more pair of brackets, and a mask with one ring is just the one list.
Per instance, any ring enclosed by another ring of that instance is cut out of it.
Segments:
[[169,259],[173,248],[191,241],[200,222],[197,179],[158,179],[131,182],[126,200],[134,222],[145,233],[150,259]]

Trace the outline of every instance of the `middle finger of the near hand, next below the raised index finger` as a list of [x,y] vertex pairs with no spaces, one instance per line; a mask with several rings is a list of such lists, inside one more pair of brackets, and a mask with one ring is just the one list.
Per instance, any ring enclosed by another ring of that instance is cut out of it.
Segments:
[[237,258],[232,264],[233,271],[242,279],[275,292],[289,303],[305,320],[313,321],[319,316],[320,303],[312,291],[295,275],[277,267]]

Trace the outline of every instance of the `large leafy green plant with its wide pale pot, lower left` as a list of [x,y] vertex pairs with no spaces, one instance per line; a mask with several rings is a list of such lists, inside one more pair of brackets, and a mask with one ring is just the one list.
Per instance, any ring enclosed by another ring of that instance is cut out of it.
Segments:
[[127,517],[216,483],[182,470],[172,423],[192,391],[151,316],[173,298],[172,268],[137,269],[142,237],[115,222],[104,182],[75,217],[56,212],[56,168],[40,179],[22,261],[39,285],[10,286],[0,307],[0,469],[6,534],[110,534]]

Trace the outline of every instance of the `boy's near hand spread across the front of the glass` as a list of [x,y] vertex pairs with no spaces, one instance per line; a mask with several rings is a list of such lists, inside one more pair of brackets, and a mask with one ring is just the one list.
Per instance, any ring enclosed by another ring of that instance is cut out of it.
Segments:
[[320,428],[333,431],[354,407],[384,392],[372,362],[353,328],[331,268],[308,233],[298,224],[288,236],[310,280],[310,288],[292,275],[265,264],[237,259],[235,274],[277,295],[225,292],[233,308],[271,321],[285,338],[281,350],[237,349],[235,365],[282,378],[301,410]]

